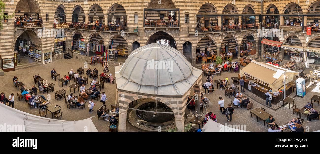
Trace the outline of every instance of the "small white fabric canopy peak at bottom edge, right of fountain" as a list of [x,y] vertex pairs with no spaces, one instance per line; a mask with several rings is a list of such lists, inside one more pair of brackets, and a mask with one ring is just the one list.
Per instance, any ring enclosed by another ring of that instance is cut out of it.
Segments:
[[[232,127],[241,128],[241,125],[231,125],[230,127],[228,126],[229,125],[227,126],[221,125],[218,122],[213,121],[212,119],[208,119],[207,123],[204,125],[204,127],[202,127],[202,131],[203,132],[248,132],[245,130],[232,128]],[[242,129],[245,129],[245,127],[243,126]]]

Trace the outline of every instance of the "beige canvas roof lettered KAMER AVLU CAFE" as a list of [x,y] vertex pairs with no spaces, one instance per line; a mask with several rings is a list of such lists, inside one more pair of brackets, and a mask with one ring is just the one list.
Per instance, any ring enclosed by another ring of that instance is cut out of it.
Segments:
[[247,76],[254,81],[270,87],[272,91],[276,91],[283,86],[283,74],[287,77],[285,81],[286,84],[293,80],[294,75],[299,74],[295,71],[284,69],[268,63],[260,63],[254,60],[243,67],[240,70],[240,73],[241,76]]

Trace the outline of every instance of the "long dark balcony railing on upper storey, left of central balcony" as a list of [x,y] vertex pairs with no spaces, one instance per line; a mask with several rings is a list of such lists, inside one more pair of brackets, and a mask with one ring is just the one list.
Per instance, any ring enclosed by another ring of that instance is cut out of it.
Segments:
[[70,28],[75,29],[85,29],[85,30],[99,30],[99,31],[107,31],[107,32],[129,32],[129,33],[138,33],[138,26],[137,27],[125,27],[125,26],[108,26],[102,25],[95,26],[95,25],[88,25],[88,24],[70,24]]

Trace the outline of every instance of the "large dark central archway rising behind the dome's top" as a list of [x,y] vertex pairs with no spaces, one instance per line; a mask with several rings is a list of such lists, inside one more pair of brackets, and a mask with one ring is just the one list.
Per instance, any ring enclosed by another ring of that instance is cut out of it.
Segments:
[[174,49],[177,49],[176,41],[172,38],[171,35],[167,34],[164,31],[159,31],[151,35],[147,41],[147,44],[150,44],[150,43],[165,44],[165,45],[171,46]]

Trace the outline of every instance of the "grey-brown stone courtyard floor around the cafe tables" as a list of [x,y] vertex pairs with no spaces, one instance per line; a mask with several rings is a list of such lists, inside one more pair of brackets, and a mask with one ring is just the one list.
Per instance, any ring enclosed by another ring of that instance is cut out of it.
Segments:
[[[16,70],[16,71],[12,71],[12,72],[5,72],[4,76],[0,76],[0,92],[4,92],[6,94],[6,96],[9,96],[11,93],[17,95],[21,94],[20,93],[20,89],[19,91],[17,89],[15,89],[15,87],[12,85],[12,78],[14,75],[17,75],[19,78],[19,81],[22,81],[25,85],[26,85],[26,89],[31,89],[32,85],[35,85],[33,82],[33,76],[36,74],[40,74],[40,76],[44,79],[47,79],[48,83],[54,83],[55,84],[55,88],[54,91],[60,90],[60,89],[65,89],[67,91],[66,95],[70,94],[71,92],[69,91],[69,84],[67,86],[63,86],[63,88],[61,88],[61,84],[60,86],[58,86],[58,80],[54,81],[51,79],[51,75],[50,75],[50,71],[52,70],[52,68],[56,69],[57,73],[60,73],[60,78],[63,77],[63,75],[67,74],[71,69],[73,69],[74,71],[76,71],[78,68],[80,67],[84,67],[84,61],[78,60],[76,58],[71,58],[71,59],[60,59],[57,61],[54,61],[52,63],[49,64],[45,64],[45,65],[40,65],[40,66],[35,66],[35,67],[28,67],[28,68],[24,68],[24,69],[20,69],[20,70]],[[99,70],[99,74],[103,72],[103,67],[101,64],[96,64],[96,65],[90,65],[88,64],[88,68],[91,68],[91,70],[93,70],[94,68],[97,68]],[[85,69],[86,71],[87,69]],[[110,73],[112,73],[114,75],[115,69],[114,67],[109,67]],[[308,71],[306,71],[308,72]],[[231,77],[234,76],[238,76],[238,73],[229,73],[229,72],[225,72],[225,73],[221,73],[221,75],[215,75],[214,76],[214,80],[218,80],[218,79],[224,79],[225,77],[228,77],[229,79]],[[205,80],[204,76],[203,76],[203,80]],[[88,82],[92,81],[89,79]],[[100,81],[100,79],[98,79],[98,81]],[[205,82],[205,81],[204,81]],[[74,83],[73,80],[70,81],[70,83]],[[307,83],[307,85],[309,84],[309,82]],[[89,88],[89,84],[85,85],[86,89]],[[228,86],[230,86],[230,82],[228,82]],[[239,85],[237,85],[239,86]],[[109,83],[105,83],[105,87],[104,89],[101,89],[101,92],[104,91],[107,95],[107,108],[110,108],[110,104],[116,104],[115,103],[115,98],[116,98],[116,84],[109,84]],[[73,90],[72,90],[73,93]],[[191,92],[193,94],[193,92]],[[248,91],[244,92],[243,94],[245,96],[248,95]],[[297,106],[297,108],[301,109],[304,105],[307,104],[307,102],[310,101],[310,98],[313,95],[320,95],[319,94],[319,89],[318,89],[318,85],[314,85],[314,86],[310,86],[307,88],[307,95],[303,98],[300,97],[294,97],[295,99],[295,104]],[[76,96],[79,94],[79,92],[76,90]],[[191,94],[191,95],[192,95]],[[38,92],[39,95],[39,92]],[[86,119],[89,118],[91,116],[92,117],[92,121],[93,124],[96,126],[96,128],[98,129],[99,132],[108,132],[108,125],[109,122],[108,121],[104,121],[104,120],[98,120],[97,114],[89,114],[88,113],[88,106],[85,106],[84,110],[82,109],[77,109],[77,108],[71,108],[68,109],[67,105],[65,104],[65,100],[61,99],[59,101],[54,100],[54,92],[49,92],[48,96],[47,94],[40,94],[40,95],[44,95],[45,97],[50,96],[51,97],[51,103],[48,104],[48,106],[50,105],[60,105],[61,106],[61,112],[63,112],[62,114],[62,120],[80,120],[80,119]],[[228,125],[246,125],[246,130],[247,131],[252,131],[252,132],[267,132],[268,127],[267,126],[263,126],[263,121],[261,119],[259,119],[259,122],[256,121],[255,116],[253,116],[253,118],[251,118],[250,116],[250,110],[246,110],[244,108],[236,108],[233,114],[233,119],[232,122],[227,122],[227,118],[225,115],[222,115],[219,110],[218,110],[218,100],[219,97],[221,96],[223,99],[225,99],[225,104],[227,105],[230,101],[233,101],[234,97],[230,96],[230,99],[225,96],[224,94],[224,90],[219,90],[216,89],[213,93],[210,93],[209,95],[205,95],[207,97],[210,98],[210,101],[212,102],[212,108],[208,109],[208,112],[212,111],[214,114],[216,114],[217,117],[217,122],[219,122],[220,124],[225,124],[227,123]],[[294,95],[291,94],[290,97],[293,97]],[[260,99],[260,98],[250,98],[250,101],[253,101],[253,108],[260,108],[263,107],[266,109],[266,112],[270,113],[271,115],[274,116],[274,118],[276,119],[276,123],[278,125],[284,125],[286,124],[287,121],[291,120],[293,117],[299,117],[299,115],[297,116],[297,114],[292,114],[292,108],[289,109],[289,104],[286,104],[284,107],[279,108],[278,110],[274,111],[268,107],[266,107],[265,101]],[[88,101],[88,100],[87,100]],[[261,102],[262,104],[260,104],[259,102]],[[100,101],[95,101],[96,106],[93,108],[94,113],[100,108],[100,106],[102,105],[102,103],[100,103]],[[139,101],[138,101],[139,103]],[[7,103],[8,104],[8,103]],[[291,105],[292,107],[292,105]],[[38,109],[31,109],[28,108],[28,104],[21,100],[18,101],[17,96],[15,96],[15,105],[14,105],[15,109],[18,109],[20,111],[23,112],[27,112],[30,114],[34,114],[34,115],[39,115],[38,113]],[[316,109],[316,111],[320,110],[319,106],[316,106],[316,103],[314,104],[314,108]],[[188,109],[186,111],[186,114],[188,114]],[[199,112],[198,112],[199,113]],[[48,113],[47,118],[51,118],[51,113]],[[312,120],[312,122],[307,122],[306,119],[306,115],[301,115],[301,118],[304,119],[304,122],[302,124],[302,126],[306,129],[306,127],[308,127],[308,131],[315,131],[315,130],[320,130],[320,121],[319,120]],[[190,118],[186,119],[186,123],[188,123],[187,121]],[[136,127],[131,126],[128,122],[126,124],[126,131],[127,132],[142,132],[143,130],[140,130]],[[287,131],[284,131],[287,132]]]

